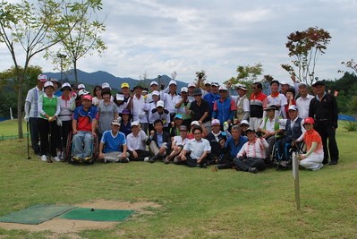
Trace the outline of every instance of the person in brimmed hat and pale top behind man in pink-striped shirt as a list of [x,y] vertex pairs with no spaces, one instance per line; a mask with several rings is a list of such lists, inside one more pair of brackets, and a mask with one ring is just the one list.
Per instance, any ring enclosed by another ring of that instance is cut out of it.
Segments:
[[275,105],[268,105],[268,107],[264,109],[264,111],[267,112],[267,116],[263,118],[263,122],[258,128],[259,132],[262,133],[263,138],[268,141],[269,147],[267,149],[267,158],[265,159],[267,163],[270,163],[271,152],[276,140],[284,137],[285,127],[276,123],[274,120],[275,112],[278,109],[279,107],[276,107]]

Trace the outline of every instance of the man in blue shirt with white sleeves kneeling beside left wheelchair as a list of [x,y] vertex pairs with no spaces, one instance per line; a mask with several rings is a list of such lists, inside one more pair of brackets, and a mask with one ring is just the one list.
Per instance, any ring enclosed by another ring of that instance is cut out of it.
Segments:
[[125,134],[119,132],[119,121],[112,121],[110,127],[112,130],[104,132],[102,140],[99,143],[98,158],[104,159],[104,163],[107,161],[113,163],[128,163],[129,153],[127,152]]

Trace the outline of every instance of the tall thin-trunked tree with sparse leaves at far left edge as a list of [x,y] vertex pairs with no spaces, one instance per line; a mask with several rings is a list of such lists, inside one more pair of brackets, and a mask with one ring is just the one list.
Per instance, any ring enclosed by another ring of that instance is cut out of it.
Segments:
[[[17,73],[18,130],[22,138],[22,90],[30,59],[64,40],[77,23],[86,17],[82,10],[100,10],[101,0],[38,0],[37,4],[30,4],[26,0],[11,4],[2,0],[0,5],[0,42],[12,55]],[[24,55],[21,63],[19,55]]]

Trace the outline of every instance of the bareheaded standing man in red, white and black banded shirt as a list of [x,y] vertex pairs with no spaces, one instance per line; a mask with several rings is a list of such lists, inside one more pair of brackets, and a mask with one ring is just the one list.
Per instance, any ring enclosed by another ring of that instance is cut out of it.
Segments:
[[257,131],[263,119],[263,108],[268,105],[268,98],[261,92],[263,86],[259,82],[253,83],[251,90],[253,92],[251,93],[250,125],[254,131]]

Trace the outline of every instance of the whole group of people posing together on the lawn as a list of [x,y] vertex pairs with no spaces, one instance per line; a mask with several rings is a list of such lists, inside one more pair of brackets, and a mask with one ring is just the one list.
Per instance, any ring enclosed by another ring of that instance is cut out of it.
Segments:
[[104,162],[161,161],[257,173],[266,168],[274,144],[284,162],[286,150],[304,141],[307,152],[299,157],[300,165],[319,170],[328,163],[328,153],[329,164],[336,165],[336,98],[325,92],[323,81],[311,85],[312,96],[306,83],[292,79],[293,88],[271,81],[268,96],[259,82],[249,97],[246,85],[238,84],[238,95],[231,96],[231,83],[206,81],[201,89],[201,79],[179,93],[174,80],[166,89],[151,81],[150,90],[138,84],[133,92],[123,82],[114,96],[103,83],[91,96],[83,84],[61,85],[40,74],[26,98],[25,121],[32,149],[47,162],[64,160],[72,131],[72,160],[80,162],[90,160],[98,137],[98,158]]

